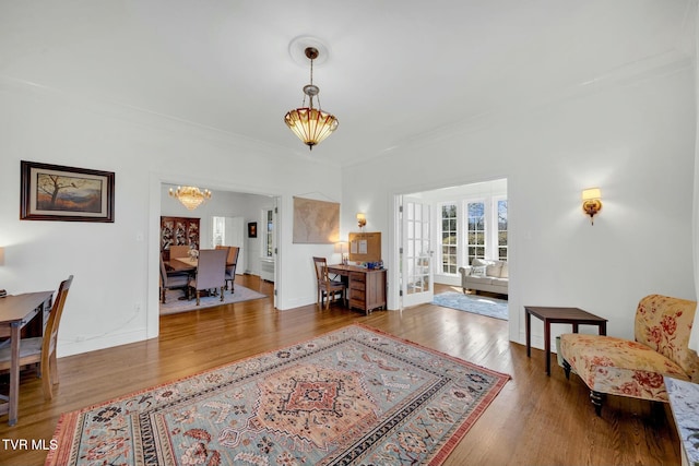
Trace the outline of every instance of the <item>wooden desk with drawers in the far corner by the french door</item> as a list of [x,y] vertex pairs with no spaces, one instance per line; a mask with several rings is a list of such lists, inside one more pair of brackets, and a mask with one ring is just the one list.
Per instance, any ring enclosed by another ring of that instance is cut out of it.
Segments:
[[340,275],[347,286],[350,309],[362,309],[369,314],[386,308],[386,268],[337,264],[328,265],[328,272]]

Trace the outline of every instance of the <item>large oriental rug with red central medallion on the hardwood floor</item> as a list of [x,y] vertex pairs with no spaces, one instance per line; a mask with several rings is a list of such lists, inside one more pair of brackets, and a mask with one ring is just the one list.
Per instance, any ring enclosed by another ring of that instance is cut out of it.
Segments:
[[63,414],[46,464],[439,465],[509,379],[350,325]]

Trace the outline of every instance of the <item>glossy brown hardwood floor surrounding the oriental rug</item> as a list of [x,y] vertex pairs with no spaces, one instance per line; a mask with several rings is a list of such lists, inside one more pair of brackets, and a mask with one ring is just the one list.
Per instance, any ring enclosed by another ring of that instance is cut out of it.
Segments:
[[[268,296],[254,276],[238,283]],[[446,288],[446,287],[445,287]],[[439,288],[438,290],[439,291]],[[66,312],[70,312],[70,300]],[[507,322],[433,304],[365,316],[339,304],[276,311],[271,299],[161,318],[161,336],[59,359],[61,383],[51,402],[26,373],[20,420],[0,417],[0,464],[43,464],[46,451],[13,450],[10,440],[44,440],[59,415],[169,382],[240,358],[291,345],[351,323],[364,323],[420,345],[512,375],[446,465],[678,465],[679,440],[666,406],[609,397],[602,418],[577,375],[567,381],[543,351],[508,340]]]

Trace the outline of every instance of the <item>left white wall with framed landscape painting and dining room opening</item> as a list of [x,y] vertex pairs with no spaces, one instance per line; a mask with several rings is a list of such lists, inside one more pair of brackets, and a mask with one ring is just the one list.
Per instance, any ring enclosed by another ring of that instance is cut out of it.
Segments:
[[[309,266],[308,276],[298,267],[282,270],[277,306],[315,302],[309,258],[327,248],[292,244],[292,198],[317,191],[340,199],[341,188],[339,168],[304,148],[281,153],[206,128],[0,79],[0,246],[5,249],[0,288],[12,294],[56,289],[75,275],[59,356],[156,336],[162,184],[193,183],[281,196],[283,261]],[[115,171],[115,223],[20,220],[22,159]]]

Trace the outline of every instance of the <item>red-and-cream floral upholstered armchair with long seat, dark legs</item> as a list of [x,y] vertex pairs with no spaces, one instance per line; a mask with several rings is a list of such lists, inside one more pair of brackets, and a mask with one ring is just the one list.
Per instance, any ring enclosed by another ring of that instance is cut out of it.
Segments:
[[695,301],[650,295],[636,310],[635,342],[561,335],[566,378],[571,370],[580,375],[597,416],[606,394],[667,403],[663,375],[699,383],[699,357],[688,347],[696,308]]

